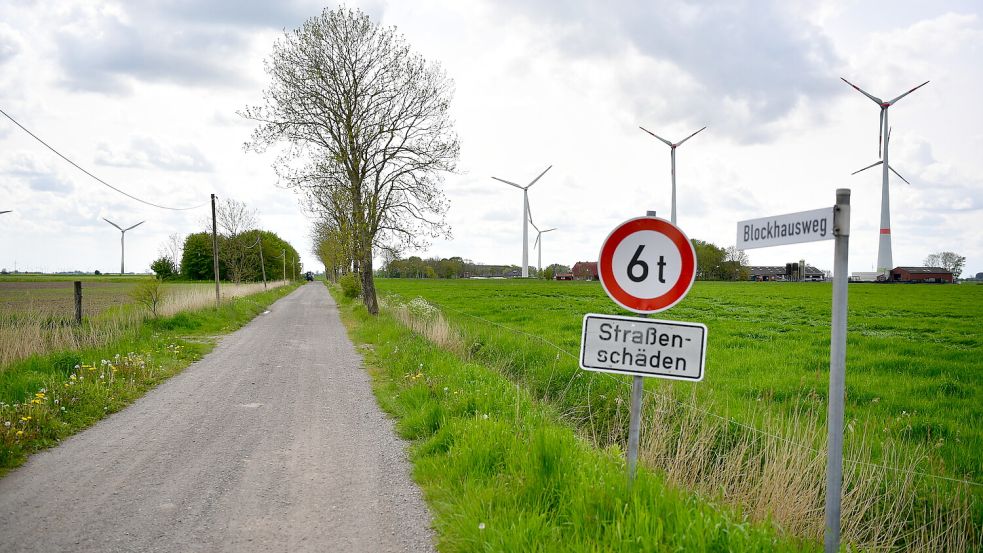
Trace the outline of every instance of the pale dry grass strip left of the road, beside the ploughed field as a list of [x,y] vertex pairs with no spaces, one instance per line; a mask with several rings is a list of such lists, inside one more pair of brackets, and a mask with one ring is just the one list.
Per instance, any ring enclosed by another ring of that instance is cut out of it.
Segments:
[[[271,282],[276,288],[286,281]],[[262,283],[223,283],[222,298],[231,299],[263,291]],[[86,292],[83,290],[83,299]],[[211,284],[172,284],[166,288],[158,313],[163,316],[181,311],[201,309],[215,304],[215,288]],[[0,313],[0,367],[34,354],[51,351],[77,350],[98,347],[133,332],[149,313],[132,302],[120,300],[95,316],[76,325],[70,312],[50,306],[37,299]]]

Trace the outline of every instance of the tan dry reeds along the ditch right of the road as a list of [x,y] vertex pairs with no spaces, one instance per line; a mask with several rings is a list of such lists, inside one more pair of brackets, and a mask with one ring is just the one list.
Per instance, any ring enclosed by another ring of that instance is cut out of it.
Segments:
[[[448,323],[426,300],[383,302],[382,307],[435,345],[461,357],[469,355],[466,332]],[[672,484],[730,505],[751,520],[769,521],[789,535],[822,540],[826,425],[815,415],[816,409],[779,417],[762,408],[751,428],[710,412],[695,395],[685,401],[676,396],[669,382],[646,393],[643,464],[663,472]],[[571,417],[599,447],[623,446],[627,441],[628,386],[622,387],[619,397],[613,414],[617,420],[598,425],[610,429],[606,434],[595,431],[589,396],[588,417]],[[844,543],[874,551],[961,552],[983,547],[983,537],[974,527],[969,485],[920,474],[924,458],[911,449],[903,454],[888,450],[882,465],[849,461],[869,459],[871,453],[865,427],[851,422],[847,431],[841,507]]]

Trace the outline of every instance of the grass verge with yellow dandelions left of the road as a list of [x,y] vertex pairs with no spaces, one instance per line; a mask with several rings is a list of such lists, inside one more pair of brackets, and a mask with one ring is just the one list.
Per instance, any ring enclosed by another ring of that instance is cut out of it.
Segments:
[[245,325],[295,288],[146,319],[106,345],[33,355],[0,367],[0,475],[129,405],[210,351],[215,335]]

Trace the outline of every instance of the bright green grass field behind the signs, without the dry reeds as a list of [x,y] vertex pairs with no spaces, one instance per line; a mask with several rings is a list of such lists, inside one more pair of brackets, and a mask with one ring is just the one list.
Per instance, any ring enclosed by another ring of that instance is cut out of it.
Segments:
[[[585,313],[629,314],[598,283],[386,279],[379,290],[423,297],[452,319],[480,317],[574,355]],[[824,415],[830,304],[829,284],[696,283],[658,315],[709,329],[705,380],[673,387],[747,422],[762,406]],[[923,446],[940,474],[983,480],[983,286],[851,285],[849,305],[847,420],[879,431],[875,445],[890,438]]]

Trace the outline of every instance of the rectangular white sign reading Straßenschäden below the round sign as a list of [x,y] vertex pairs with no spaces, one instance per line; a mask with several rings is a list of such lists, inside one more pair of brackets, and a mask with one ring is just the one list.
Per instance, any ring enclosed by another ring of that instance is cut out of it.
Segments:
[[618,315],[584,315],[580,368],[588,371],[703,380],[707,327]]

